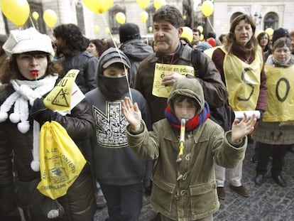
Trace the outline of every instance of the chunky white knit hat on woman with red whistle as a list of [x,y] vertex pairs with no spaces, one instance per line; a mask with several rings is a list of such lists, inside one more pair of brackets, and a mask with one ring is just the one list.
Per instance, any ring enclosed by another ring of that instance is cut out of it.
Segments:
[[51,60],[53,60],[55,55],[50,37],[38,32],[36,28],[11,31],[9,38],[2,48],[9,57],[13,54],[31,51],[49,53]]

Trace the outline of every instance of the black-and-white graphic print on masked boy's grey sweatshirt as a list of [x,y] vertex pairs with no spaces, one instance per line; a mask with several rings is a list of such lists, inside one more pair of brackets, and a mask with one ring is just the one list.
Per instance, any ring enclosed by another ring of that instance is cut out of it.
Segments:
[[106,102],[105,113],[93,106],[96,123],[96,142],[106,148],[123,148],[128,146],[126,140],[126,121],[121,111],[121,102]]

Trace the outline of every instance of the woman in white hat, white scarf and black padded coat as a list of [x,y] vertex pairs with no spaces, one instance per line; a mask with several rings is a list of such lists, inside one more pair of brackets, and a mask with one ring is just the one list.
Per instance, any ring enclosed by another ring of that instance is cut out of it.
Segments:
[[[3,48],[9,59],[0,72],[0,81],[4,83],[0,86],[1,220],[16,220],[9,217],[16,206],[21,207],[26,221],[49,217],[92,220],[97,207],[89,165],[84,166],[66,195],[57,200],[36,189],[40,176],[44,177],[38,163],[40,127],[48,121],[58,122],[78,145],[94,129],[89,105],[84,99],[70,109],[69,114],[60,114],[45,106],[44,97],[60,82],[62,70],[52,61],[54,50],[49,36],[35,28],[13,30]],[[67,104],[62,102],[67,93],[64,90],[64,96],[55,97],[53,103]],[[50,160],[55,163],[52,173],[58,177],[64,168],[61,160]],[[16,202],[13,199],[17,199]]]

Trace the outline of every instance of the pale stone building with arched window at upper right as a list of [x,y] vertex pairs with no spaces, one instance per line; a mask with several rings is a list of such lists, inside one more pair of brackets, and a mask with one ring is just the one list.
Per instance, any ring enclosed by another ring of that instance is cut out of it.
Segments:
[[[288,28],[294,31],[292,1],[214,1],[214,29],[217,35],[229,31],[229,23],[239,13],[250,14],[256,21],[256,31],[266,28]],[[217,10],[218,9],[218,10]]]

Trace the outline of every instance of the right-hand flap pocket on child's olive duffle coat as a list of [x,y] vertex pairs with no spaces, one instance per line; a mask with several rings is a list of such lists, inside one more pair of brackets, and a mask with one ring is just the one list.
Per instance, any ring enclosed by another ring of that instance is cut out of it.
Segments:
[[214,211],[217,208],[216,188],[217,184],[214,180],[210,183],[190,186],[192,214]]

